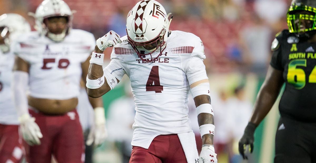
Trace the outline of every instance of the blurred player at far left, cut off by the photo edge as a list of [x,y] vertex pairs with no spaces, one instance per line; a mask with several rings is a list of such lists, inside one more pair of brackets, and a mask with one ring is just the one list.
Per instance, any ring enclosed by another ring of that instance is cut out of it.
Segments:
[[18,35],[30,30],[30,25],[21,15],[9,13],[0,16],[0,162],[20,162],[22,156],[22,139],[19,137],[11,84],[15,56],[10,44]]

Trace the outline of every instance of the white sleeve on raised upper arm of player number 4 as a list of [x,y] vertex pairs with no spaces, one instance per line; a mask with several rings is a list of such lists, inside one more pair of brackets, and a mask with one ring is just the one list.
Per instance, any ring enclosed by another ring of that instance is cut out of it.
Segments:
[[117,85],[116,79],[120,81],[124,74],[126,74],[126,71],[119,59],[112,58],[111,62],[103,69],[103,74],[110,88],[113,89]]

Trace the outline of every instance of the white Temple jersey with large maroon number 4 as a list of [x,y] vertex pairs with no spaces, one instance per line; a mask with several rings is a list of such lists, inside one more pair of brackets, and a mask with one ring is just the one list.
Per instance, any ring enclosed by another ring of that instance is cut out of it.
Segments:
[[[119,80],[126,74],[131,80],[136,110],[131,144],[149,148],[158,135],[192,131],[187,107],[190,84],[208,79],[201,39],[192,33],[172,31],[166,49],[154,62],[142,61],[127,36],[121,41],[114,46],[112,60],[104,71]],[[154,52],[153,58],[159,52]],[[144,59],[150,58],[147,55]]]

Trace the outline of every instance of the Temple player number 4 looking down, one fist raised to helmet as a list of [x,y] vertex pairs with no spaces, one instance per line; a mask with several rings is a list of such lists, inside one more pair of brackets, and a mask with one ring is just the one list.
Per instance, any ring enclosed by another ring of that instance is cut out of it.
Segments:
[[[169,31],[170,14],[155,0],[140,1],[128,13],[126,36],[110,31],[97,39],[88,95],[100,97],[124,74],[130,78],[136,110],[131,163],[217,162],[204,46],[192,33]],[[111,46],[111,62],[102,69],[102,52]],[[190,90],[203,139],[200,156],[188,117]]]

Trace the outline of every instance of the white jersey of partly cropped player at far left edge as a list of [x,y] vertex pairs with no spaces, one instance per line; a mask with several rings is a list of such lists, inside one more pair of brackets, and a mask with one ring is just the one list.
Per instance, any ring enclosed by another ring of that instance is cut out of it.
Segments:
[[12,52],[3,54],[0,51],[0,124],[19,124],[11,84],[13,65]]

